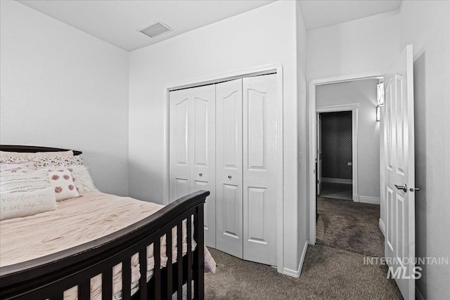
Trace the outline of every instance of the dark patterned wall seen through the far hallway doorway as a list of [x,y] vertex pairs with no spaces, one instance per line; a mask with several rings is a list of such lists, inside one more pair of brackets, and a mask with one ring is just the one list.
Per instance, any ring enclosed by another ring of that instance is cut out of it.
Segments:
[[323,112],[322,176],[352,179],[352,112]]

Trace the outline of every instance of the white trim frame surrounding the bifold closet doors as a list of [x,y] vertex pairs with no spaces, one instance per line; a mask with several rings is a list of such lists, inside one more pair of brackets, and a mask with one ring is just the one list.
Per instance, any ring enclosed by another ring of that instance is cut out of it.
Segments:
[[276,73],[276,98],[277,98],[277,122],[278,122],[278,157],[277,157],[277,178],[276,183],[277,198],[281,201],[277,202],[276,209],[276,238],[277,238],[277,270],[283,273],[283,207],[284,207],[284,190],[283,190],[283,66],[280,63],[262,65],[244,70],[227,72],[224,74],[215,74],[200,79],[191,79],[174,84],[167,84],[163,89],[162,99],[164,99],[164,170],[163,170],[163,188],[162,199],[164,204],[169,204],[169,93],[178,89],[188,89],[195,86],[204,86],[207,84],[217,84],[223,81],[239,79],[243,77],[252,77],[257,75]]

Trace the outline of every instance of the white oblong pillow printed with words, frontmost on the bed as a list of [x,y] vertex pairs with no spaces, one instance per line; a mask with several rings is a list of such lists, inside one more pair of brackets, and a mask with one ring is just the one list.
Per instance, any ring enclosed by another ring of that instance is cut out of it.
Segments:
[[56,209],[53,188],[0,195],[0,221]]

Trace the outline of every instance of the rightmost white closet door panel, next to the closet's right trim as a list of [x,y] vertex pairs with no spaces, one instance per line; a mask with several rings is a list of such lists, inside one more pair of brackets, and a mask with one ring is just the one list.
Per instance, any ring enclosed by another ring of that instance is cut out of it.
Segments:
[[271,266],[276,266],[277,145],[276,75],[244,78],[243,256]]

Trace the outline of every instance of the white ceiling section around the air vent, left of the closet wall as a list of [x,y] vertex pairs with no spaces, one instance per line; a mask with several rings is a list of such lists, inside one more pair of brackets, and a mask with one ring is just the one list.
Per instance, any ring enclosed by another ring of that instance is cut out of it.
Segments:
[[[110,44],[133,51],[273,1],[19,0],[18,2]],[[153,39],[139,32],[156,21],[165,23],[172,31]]]

